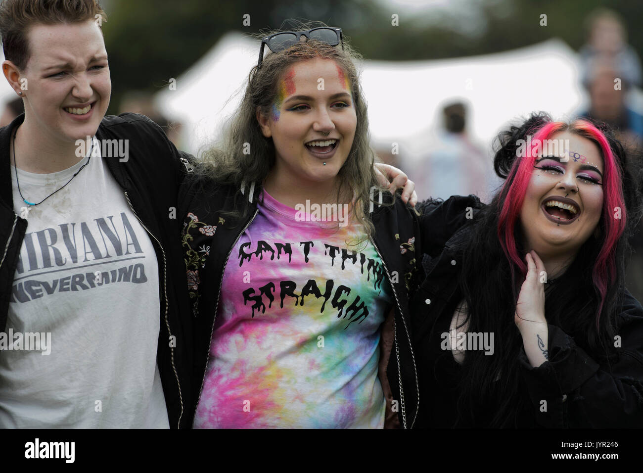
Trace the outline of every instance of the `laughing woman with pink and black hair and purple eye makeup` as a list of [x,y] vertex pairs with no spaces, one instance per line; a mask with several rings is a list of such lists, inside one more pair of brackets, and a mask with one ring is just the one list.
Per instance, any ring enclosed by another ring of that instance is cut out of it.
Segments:
[[498,140],[491,204],[420,205],[418,423],[640,427],[643,307],[624,286],[639,180],[586,120],[534,114]]

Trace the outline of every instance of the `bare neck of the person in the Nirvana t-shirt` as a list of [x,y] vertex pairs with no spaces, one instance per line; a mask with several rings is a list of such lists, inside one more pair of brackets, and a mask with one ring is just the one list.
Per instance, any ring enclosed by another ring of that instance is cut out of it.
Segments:
[[[15,131],[15,130],[14,130]],[[14,149],[15,145],[15,149]],[[26,117],[10,142],[10,160],[21,171],[35,174],[50,174],[64,171],[77,164],[85,156],[76,155],[75,142],[62,142],[37,127],[33,120]]]

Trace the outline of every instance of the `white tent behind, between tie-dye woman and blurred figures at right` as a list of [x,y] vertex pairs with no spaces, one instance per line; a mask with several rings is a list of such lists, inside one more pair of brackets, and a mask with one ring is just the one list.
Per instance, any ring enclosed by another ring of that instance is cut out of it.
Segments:
[[577,58],[559,39],[503,53],[415,62],[368,61],[362,84],[374,142],[420,155],[440,128],[442,107],[468,104],[467,129],[491,144],[507,121],[547,111],[570,118],[583,97]]

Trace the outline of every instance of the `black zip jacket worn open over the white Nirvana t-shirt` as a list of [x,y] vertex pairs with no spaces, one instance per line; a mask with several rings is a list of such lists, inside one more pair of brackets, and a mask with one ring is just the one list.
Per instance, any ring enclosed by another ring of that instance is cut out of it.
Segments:
[[[9,156],[12,132],[23,120],[24,115],[18,116],[10,125],[0,129],[0,330],[6,326],[12,283],[28,225],[26,219],[14,212]],[[170,427],[189,428],[190,423],[185,418],[191,398],[188,376],[192,353],[186,336],[190,335],[191,319],[185,312],[188,296],[179,243],[180,223],[174,216],[177,189],[185,175],[181,160],[187,162],[188,155],[181,155],[163,130],[143,115],[105,116],[96,131],[96,138],[129,140],[126,162],[119,158],[102,159],[106,160],[132,212],[154,245],[161,298],[157,351],[159,373]],[[132,307],[132,315],[136,310]],[[170,337],[176,338],[170,342]],[[118,347],[114,346],[114,349]]]

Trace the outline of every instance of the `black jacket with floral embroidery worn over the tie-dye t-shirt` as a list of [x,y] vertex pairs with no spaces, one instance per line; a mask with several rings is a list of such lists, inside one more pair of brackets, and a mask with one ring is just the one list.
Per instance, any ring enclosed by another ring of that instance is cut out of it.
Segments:
[[[186,180],[186,183],[188,181],[190,180]],[[184,227],[187,227],[193,216],[197,216],[199,222],[216,227],[210,228],[208,232],[183,234],[186,263],[190,258],[188,252],[197,252],[199,248],[206,246],[211,248],[205,259],[205,266],[198,272],[184,268],[189,274],[194,317],[194,399],[190,413],[192,419],[203,389],[224,268],[235,243],[258,213],[259,194],[258,185],[255,189],[254,183],[244,184],[239,188],[197,179],[192,180],[190,185],[185,185],[179,194]],[[387,196],[391,197],[390,194],[380,194],[383,199]],[[239,208],[243,199],[248,199],[253,209],[248,216],[241,221],[233,221],[224,214]],[[401,427],[412,428],[419,410],[419,384],[417,360],[411,346],[407,288],[417,284],[419,265],[415,249],[405,247],[402,252],[401,243],[415,237],[415,246],[421,244],[419,220],[415,213],[397,198],[392,206],[375,204],[372,209],[372,221],[376,232],[371,242],[384,263],[395,299],[394,308],[383,324],[380,345],[382,355],[379,379],[387,398],[385,427],[397,427],[399,422]],[[206,233],[210,233],[210,236]],[[397,400],[399,409],[395,409],[393,399]]]

